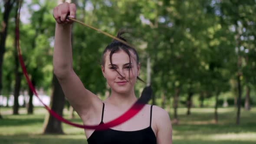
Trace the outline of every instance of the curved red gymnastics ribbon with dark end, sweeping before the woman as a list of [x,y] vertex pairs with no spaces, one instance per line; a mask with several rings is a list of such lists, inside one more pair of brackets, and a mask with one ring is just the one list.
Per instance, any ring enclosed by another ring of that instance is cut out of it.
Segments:
[[132,107],[128,111],[126,111],[123,115],[121,115],[120,117],[114,119],[113,121],[110,121],[110,122],[105,123],[105,124],[99,124],[99,125],[75,124],[75,123],[72,123],[72,122],[62,118],[55,111],[51,110],[39,98],[35,88],[33,87],[32,83],[31,83],[31,81],[29,79],[28,73],[26,72],[26,67],[25,67],[24,62],[23,62],[23,58],[21,56],[20,43],[19,43],[19,39],[20,39],[20,35],[19,35],[19,18],[20,18],[21,3],[22,3],[22,0],[20,0],[20,3],[19,3],[19,11],[18,11],[18,15],[17,15],[18,17],[17,17],[17,21],[16,21],[16,43],[17,43],[17,49],[18,49],[18,56],[19,56],[19,60],[20,60],[20,65],[21,65],[21,68],[23,70],[23,74],[26,77],[26,81],[28,82],[28,85],[29,85],[30,89],[33,91],[33,93],[36,95],[36,97],[39,99],[39,101],[44,105],[44,107],[47,109],[47,111],[49,111],[49,113],[51,115],[53,115],[53,117],[55,117],[59,121],[62,121],[64,123],[66,123],[66,124],[69,124],[69,125],[72,125],[72,126],[75,126],[75,127],[78,127],[78,128],[105,130],[105,129],[114,127],[116,125],[119,125],[119,124],[121,124],[121,123],[123,123],[125,121],[128,121],[130,118],[135,116],[144,107],[144,105],[150,100],[152,90],[151,90],[151,87],[148,86],[148,87],[144,88],[144,90],[143,90],[143,92],[141,94],[141,97],[138,99],[138,101],[134,105],[132,105]]

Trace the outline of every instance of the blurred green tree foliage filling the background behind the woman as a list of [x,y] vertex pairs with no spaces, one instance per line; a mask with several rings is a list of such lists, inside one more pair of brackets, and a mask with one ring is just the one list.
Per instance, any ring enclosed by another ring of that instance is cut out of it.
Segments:
[[[138,50],[140,77],[146,81],[146,64],[151,59],[154,95],[169,100],[175,89],[181,97],[188,92],[234,92],[238,70],[242,85],[252,93],[256,85],[255,0],[77,0],[76,18],[112,35],[126,29],[128,41]],[[26,7],[27,6],[27,7]],[[37,87],[51,88],[56,1],[24,1],[29,23],[20,22],[20,46],[27,71]],[[87,6],[87,7],[86,7]],[[91,6],[91,9],[88,9]],[[36,8],[37,7],[37,8]],[[3,5],[0,4],[0,10]],[[14,11],[10,22],[13,22]],[[2,18],[2,15],[0,15]],[[105,79],[100,69],[102,52],[112,39],[74,23],[73,66],[92,92],[104,97]],[[3,63],[3,93],[13,90],[14,23],[10,23]],[[239,38],[237,38],[237,36]],[[237,67],[241,57],[241,66]],[[139,95],[145,85],[136,85]],[[22,88],[26,89],[25,80]],[[254,95],[253,95],[254,96]],[[252,97],[255,99],[255,96]]]

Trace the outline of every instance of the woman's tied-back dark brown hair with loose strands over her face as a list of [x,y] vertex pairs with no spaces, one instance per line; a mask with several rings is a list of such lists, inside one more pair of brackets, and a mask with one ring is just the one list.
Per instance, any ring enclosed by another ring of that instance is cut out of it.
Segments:
[[[124,33],[125,33],[125,31],[121,30],[121,31],[118,32],[116,37],[121,39],[121,40],[123,40],[123,41],[125,41],[125,42],[127,42],[127,40],[124,37],[121,36]],[[136,56],[136,64],[137,65],[139,64],[139,56],[138,56],[137,51],[134,48],[132,48],[130,46],[127,46],[124,43],[119,42],[118,40],[113,39],[113,41],[105,48],[105,50],[104,50],[104,52],[102,54],[102,61],[101,61],[102,66],[105,66],[105,53],[106,52],[108,52],[108,51],[110,52],[109,59],[110,59],[111,65],[113,66],[113,64],[112,64],[112,55],[115,52],[119,52],[120,50],[123,50],[125,53],[127,53],[127,55],[129,56],[129,63],[131,63],[131,53],[130,53],[130,50],[131,50],[135,54],[135,56]],[[129,68],[129,79],[130,79],[130,69],[131,68]],[[115,71],[118,72],[116,69],[115,69]],[[118,72],[118,74],[121,75],[119,72]],[[124,78],[123,75],[121,75],[121,77]],[[138,76],[137,76],[137,79],[140,80],[141,82],[144,82]]]

